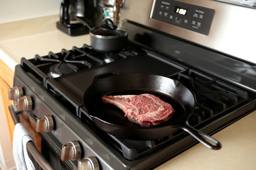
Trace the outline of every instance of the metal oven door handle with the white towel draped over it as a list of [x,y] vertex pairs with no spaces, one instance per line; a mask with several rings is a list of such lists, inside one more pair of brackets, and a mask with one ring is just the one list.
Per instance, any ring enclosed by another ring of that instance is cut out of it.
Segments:
[[[22,112],[17,112],[15,105],[9,106],[9,111],[11,113],[11,118],[14,120],[14,124],[16,125],[17,123],[20,123],[17,114]],[[38,149],[32,141],[28,142],[28,151],[33,155],[33,158],[36,159],[36,162],[38,162],[42,169],[54,170],[50,163],[43,157],[41,152],[38,151]]]

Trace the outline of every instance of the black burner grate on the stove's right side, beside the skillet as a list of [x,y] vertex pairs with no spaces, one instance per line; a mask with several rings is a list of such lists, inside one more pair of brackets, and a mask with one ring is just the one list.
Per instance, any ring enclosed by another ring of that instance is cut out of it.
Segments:
[[212,77],[206,77],[193,69],[178,73],[178,80],[196,96],[196,108],[188,120],[191,125],[200,125],[216,115],[235,108],[248,98],[246,91]]

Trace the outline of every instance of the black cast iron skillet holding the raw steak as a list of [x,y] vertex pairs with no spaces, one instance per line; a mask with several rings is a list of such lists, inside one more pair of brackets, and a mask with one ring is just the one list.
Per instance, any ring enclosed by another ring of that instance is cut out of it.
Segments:
[[[171,120],[161,125],[142,128],[124,118],[117,107],[102,103],[102,96],[124,94],[153,94],[173,106]],[[188,116],[196,106],[190,90],[180,81],[155,74],[102,74],[95,77],[85,91],[83,102],[92,121],[110,135],[129,140],[153,140],[183,129],[210,149],[220,149],[221,144],[213,137],[188,125]]]

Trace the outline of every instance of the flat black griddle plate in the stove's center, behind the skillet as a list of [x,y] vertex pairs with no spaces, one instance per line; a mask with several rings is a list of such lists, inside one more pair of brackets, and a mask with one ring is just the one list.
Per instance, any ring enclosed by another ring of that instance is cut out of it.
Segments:
[[169,77],[172,74],[177,74],[185,70],[185,67],[161,62],[154,58],[154,55],[149,55],[146,52],[142,55],[128,57],[125,60],[119,60],[104,67],[95,67],[93,69],[82,70],[75,74],[68,74],[64,77],[58,77],[55,81],[61,84],[65,89],[69,89],[78,100],[82,101],[83,94],[86,89],[92,84],[92,80],[101,74],[111,72],[118,73],[147,73],[158,74]]

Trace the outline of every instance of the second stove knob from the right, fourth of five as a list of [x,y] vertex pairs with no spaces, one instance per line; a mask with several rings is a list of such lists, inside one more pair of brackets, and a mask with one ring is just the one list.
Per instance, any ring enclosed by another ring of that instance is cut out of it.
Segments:
[[78,160],[82,154],[80,144],[77,140],[73,140],[63,145],[61,149],[60,159],[62,161]]

